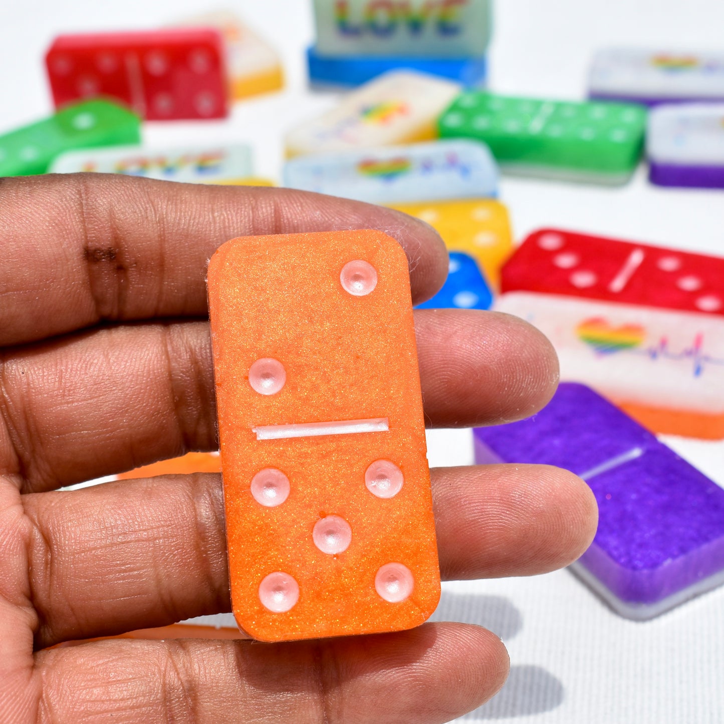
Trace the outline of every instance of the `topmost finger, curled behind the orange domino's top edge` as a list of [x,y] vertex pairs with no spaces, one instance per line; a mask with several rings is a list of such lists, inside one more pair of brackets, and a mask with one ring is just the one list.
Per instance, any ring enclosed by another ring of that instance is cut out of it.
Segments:
[[379,229],[408,255],[413,299],[436,292],[447,252],[424,222],[290,189],[102,174],[3,179],[0,345],[105,320],[206,316],[206,265],[238,236]]

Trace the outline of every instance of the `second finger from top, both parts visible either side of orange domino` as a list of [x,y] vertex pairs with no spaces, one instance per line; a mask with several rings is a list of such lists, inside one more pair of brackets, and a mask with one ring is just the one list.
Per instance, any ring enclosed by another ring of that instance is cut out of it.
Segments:
[[[429,425],[528,416],[555,390],[550,344],[513,316],[421,310],[416,333]],[[7,472],[22,473],[26,491],[216,447],[203,322],[113,327],[18,350],[0,384],[0,423],[14,450]]]

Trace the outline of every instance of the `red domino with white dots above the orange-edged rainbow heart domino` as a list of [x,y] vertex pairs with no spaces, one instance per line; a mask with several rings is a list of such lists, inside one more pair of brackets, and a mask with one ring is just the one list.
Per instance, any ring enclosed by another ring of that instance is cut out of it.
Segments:
[[500,287],[724,316],[724,258],[557,229],[518,247]]

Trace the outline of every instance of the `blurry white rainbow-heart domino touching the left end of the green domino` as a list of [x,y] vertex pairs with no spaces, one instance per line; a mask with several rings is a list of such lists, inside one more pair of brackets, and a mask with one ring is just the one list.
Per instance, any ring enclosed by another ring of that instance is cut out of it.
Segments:
[[287,156],[431,140],[437,136],[437,117],[459,92],[457,83],[432,75],[385,73],[287,133]]

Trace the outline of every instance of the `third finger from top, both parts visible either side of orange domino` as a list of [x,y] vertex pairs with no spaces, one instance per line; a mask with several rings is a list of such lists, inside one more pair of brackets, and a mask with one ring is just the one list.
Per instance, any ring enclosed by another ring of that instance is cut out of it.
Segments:
[[[546,466],[432,471],[442,575],[544,573],[596,528],[586,484]],[[36,647],[230,610],[220,476],[30,494]]]

